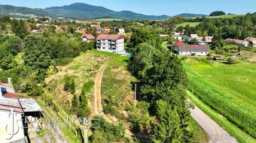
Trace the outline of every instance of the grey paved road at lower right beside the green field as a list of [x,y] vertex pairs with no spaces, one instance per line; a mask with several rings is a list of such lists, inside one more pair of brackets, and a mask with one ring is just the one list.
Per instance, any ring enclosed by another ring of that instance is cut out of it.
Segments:
[[230,136],[224,129],[222,129],[212,118],[209,118],[206,113],[195,106],[195,109],[190,109],[191,116],[206,130],[209,135],[210,143],[236,143],[236,139]]

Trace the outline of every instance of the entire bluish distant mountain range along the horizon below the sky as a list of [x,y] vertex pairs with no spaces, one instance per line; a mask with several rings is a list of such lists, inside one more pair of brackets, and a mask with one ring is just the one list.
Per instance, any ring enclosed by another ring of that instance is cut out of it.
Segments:
[[[168,19],[170,16],[148,16],[141,13],[134,13],[129,10],[114,11],[105,7],[93,6],[84,3],[74,3],[62,7],[47,7],[45,9],[33,9],[29,7],[15,7],[11,5],[0,5],[0,14],[8,14],[12,17],[36,18],[50,16],[52,18],[62,17],[64,19],[98,19],[98,18],[119,18],[119,19]],[[196,17],[206,16],[204,14],[182,13],[177,16]]]

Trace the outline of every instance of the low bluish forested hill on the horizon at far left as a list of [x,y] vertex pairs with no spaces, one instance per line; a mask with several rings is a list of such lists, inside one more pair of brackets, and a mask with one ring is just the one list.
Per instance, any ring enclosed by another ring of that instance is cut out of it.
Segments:
[[41,9],[33,9],[29,7],[15,7],[12,5],[0,5],[0,13],[7,15],[15,15],[16,13],[22,14],[34,14],[35,16],[50,16],[50,13],[41,10]]

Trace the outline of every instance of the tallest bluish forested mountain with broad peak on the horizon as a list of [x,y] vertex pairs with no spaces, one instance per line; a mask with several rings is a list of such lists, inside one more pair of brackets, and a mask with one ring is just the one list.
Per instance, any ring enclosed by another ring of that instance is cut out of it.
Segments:
[[62,7],[45,8],[47,12],[53,16],[60,14],[66,18],[72,19],[96,19],[102,17],[120,18],[120,19],[168,19],[169,16],[147,16],[132,11],[114,11],[105,7],[93,6],[84,3],[74,3]]

